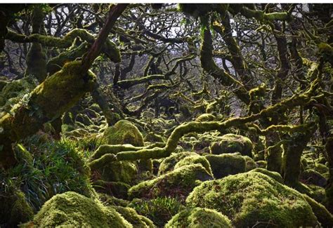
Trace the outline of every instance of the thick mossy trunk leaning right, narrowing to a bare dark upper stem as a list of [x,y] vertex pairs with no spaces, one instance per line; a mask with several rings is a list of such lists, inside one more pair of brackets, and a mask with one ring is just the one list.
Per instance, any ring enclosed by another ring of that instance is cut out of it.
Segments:
[[0,166],[8,168],[15,164],[11,144],[37,132],[47,121],[53,121],[75,105],[85,93],[93,90],[96,76],[89,67],[98,57],[115,25],[115,21],[127,4],[112,6],[105,26],[93,43],[84,60],[67,63],[62,70],[45,79],[30,93],[30,100],[17,107],[14,115],[6,114],[0,119]]

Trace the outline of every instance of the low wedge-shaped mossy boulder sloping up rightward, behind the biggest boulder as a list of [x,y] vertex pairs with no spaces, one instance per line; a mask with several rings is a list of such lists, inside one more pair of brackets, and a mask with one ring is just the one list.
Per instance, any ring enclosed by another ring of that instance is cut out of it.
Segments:
[[153,180],[146,180],[129,189],[129,198],[171,196],[184,198],[202,181],[213,177],[201,164],[182,166]]

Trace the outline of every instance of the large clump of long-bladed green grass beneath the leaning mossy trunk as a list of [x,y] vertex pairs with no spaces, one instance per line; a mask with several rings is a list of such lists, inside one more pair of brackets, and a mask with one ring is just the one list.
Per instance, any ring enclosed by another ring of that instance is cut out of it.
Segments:
[[55,194],[72,191],[91,196],[87,157],[79,148],[73,140],[28,138],[15,147],[18,165],[0,172],[0,194],[21,189],[35,211]]

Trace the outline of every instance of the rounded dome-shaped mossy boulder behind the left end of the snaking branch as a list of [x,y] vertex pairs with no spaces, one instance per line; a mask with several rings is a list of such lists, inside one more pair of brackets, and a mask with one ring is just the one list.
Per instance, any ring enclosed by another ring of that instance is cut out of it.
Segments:
[[103,133],[105,142],[110,145],[131,144],[135,147],[143,147],[143,136],[138,128],[130,121],[121,120],[114,126],[108,127]]

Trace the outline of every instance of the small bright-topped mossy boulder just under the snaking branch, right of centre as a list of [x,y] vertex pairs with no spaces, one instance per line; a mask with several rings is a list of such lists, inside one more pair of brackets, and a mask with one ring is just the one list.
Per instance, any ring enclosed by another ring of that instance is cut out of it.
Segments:
[[226,154],[240,152],[244,156],[252,157],[252,142],[242,135],[226,134],[219,142],[213,142],[211,154]]

